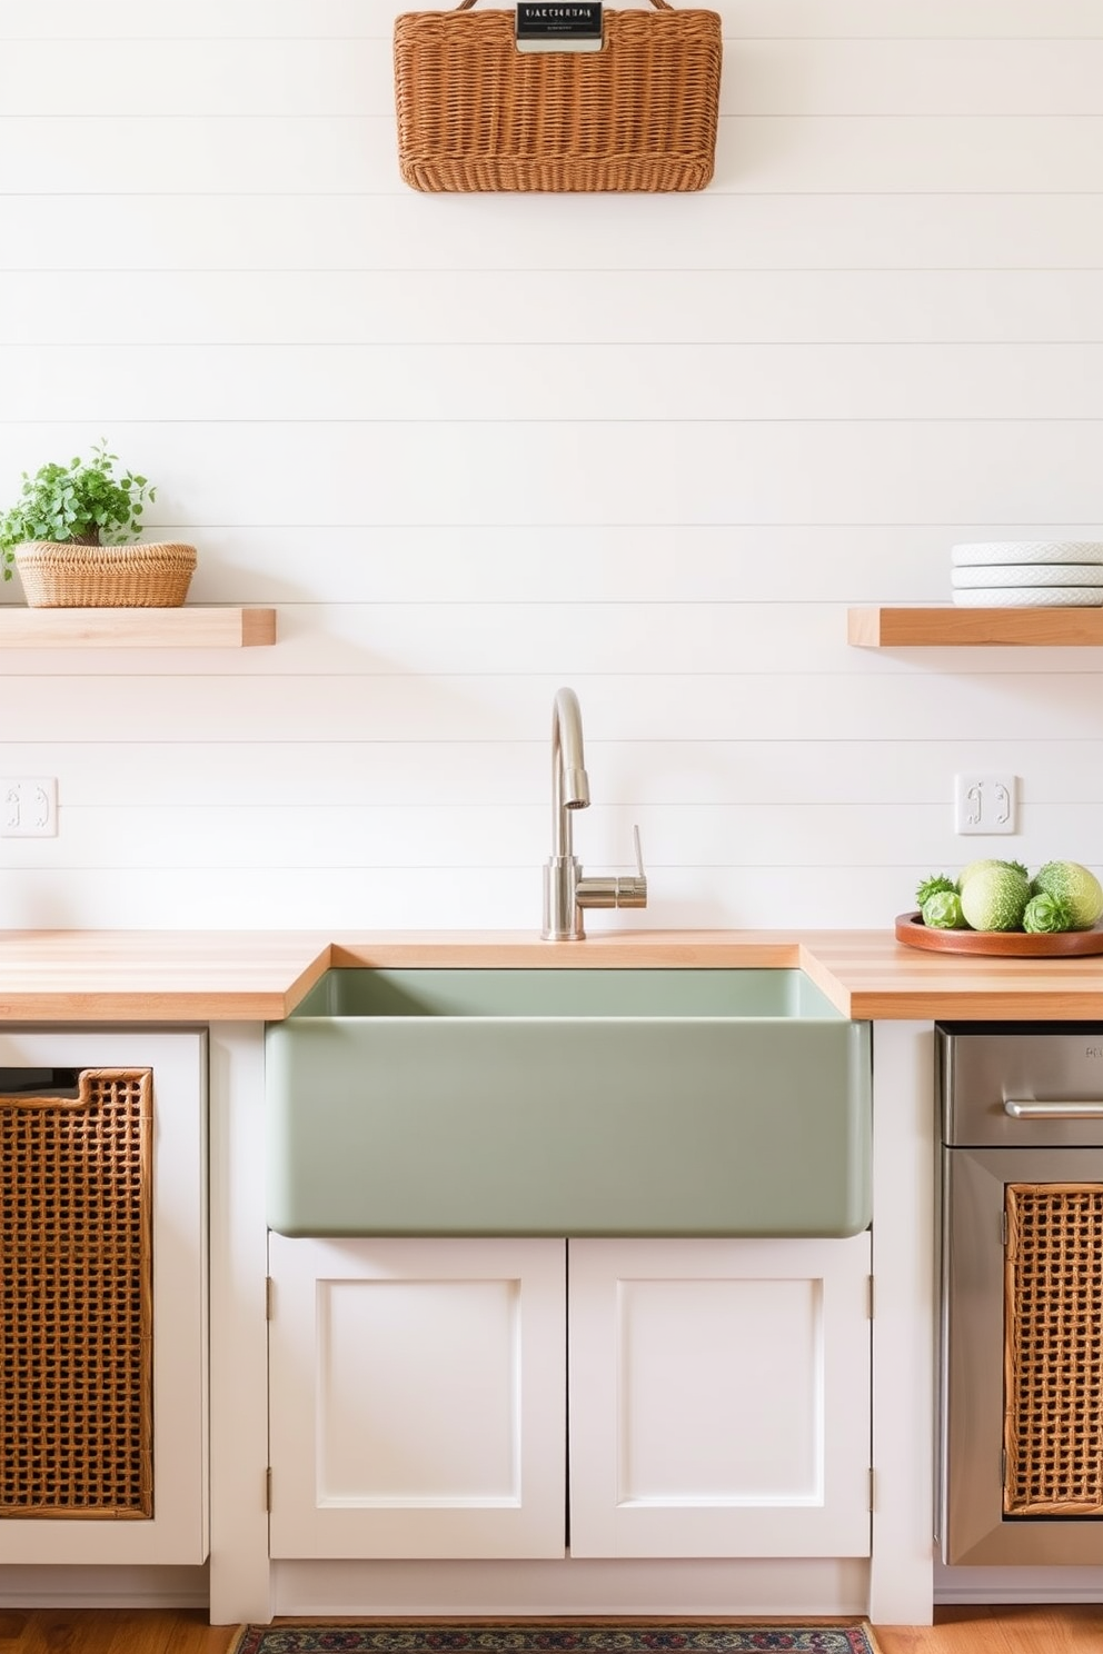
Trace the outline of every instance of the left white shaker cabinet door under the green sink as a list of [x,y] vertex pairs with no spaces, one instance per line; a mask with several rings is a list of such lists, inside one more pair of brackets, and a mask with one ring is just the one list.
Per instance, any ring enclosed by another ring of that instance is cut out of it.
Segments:
[[271,1555],[562,1556],[562,1240],[270,1237]]

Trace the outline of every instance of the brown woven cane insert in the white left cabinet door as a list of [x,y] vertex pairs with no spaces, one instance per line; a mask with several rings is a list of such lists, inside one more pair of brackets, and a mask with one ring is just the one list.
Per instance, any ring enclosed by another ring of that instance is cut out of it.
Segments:
[[152,1075],[0,1097],[0,1517],[150,1517]]

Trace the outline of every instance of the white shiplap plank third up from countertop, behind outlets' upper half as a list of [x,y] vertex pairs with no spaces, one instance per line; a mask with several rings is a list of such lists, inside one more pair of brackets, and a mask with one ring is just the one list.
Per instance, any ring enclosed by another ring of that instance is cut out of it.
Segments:
[[[953,686],[939,691],[948,706]],[[549,706],[551,713],[551,706]],[[1103,736],[880,741],[795,736],[729,741],[605,741],[587,736],[597,805],[934,805],[946,827],[954,776],[1015,774],[1027,820],[1103,804]],[[546,733],[514,741],[0,741],[0,774],[58,779],[61,809],[463,807],[547,805]],[[585,822],[582,819],[579,834]],[[938,822],[936,822],[938,825]],[[883,850],[885,847],[881,847]],[[964,855],[966,847],[959,847]],[[1010,852],[1009,852],[1010,853]],[[971,857],[971,852],[969,852]]]

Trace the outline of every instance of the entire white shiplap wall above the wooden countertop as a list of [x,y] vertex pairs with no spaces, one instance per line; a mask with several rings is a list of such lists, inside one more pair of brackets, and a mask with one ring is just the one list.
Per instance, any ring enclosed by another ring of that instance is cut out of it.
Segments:
[[[0,923],[536,928],[559,683],[614,923],[1103,870],[1098,652],[845,643],[954,541],[1103,534],[1103,0],[718,0],[665,197],[407,190],[399,10],[0,0],[0,501],[106,435],[281,632],[0,655],[61,801]],[[1019,837],[954,837],[962,767]]]

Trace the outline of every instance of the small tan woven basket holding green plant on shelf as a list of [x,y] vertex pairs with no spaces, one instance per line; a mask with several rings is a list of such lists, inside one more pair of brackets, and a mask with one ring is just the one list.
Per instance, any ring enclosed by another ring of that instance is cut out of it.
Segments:
[[33,539],[15,551],[31,609],[179,609],[195,572],[195,546],[79,546]]

